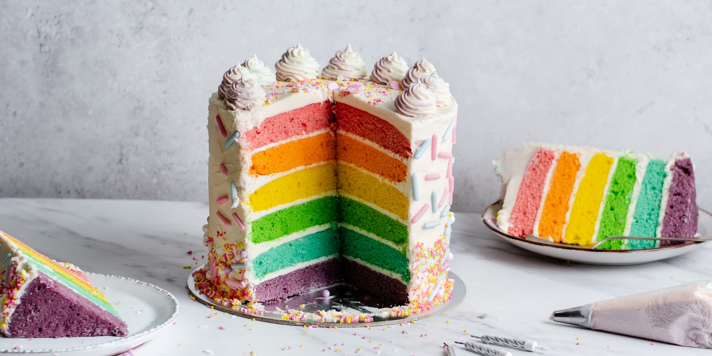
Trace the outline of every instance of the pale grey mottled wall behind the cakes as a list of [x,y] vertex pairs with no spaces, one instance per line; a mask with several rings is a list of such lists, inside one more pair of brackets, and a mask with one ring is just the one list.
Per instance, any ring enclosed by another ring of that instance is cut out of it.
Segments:
[[[221,75],[300,42],[425,56],[460,105],[457,211],[536,140],[688,149],[712,208],[710,1],[0,2],[0,197],[206,200]],[[436,7],[431,4],[438,3]]]

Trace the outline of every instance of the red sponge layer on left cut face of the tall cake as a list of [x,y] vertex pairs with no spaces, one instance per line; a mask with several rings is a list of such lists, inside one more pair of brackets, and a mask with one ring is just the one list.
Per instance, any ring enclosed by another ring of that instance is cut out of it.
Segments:
[[304,108],[267,117],[257,127],[243,132],[247,150],[254,150],[296,135],[304,135],[330,127],[333,122],[331,103],[314,103]]

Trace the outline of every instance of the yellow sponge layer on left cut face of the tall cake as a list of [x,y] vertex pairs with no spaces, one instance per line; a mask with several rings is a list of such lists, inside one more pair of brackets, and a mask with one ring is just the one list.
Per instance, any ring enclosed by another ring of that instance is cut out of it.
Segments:
[[320,164],[287,174],[263,185],[250,194],[248,204],[252,206],[253,211],[262,211],[335,189],[335,165]]

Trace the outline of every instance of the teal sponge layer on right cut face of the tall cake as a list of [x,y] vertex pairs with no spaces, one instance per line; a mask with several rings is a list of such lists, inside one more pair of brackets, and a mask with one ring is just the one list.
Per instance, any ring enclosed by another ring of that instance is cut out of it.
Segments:
[[340,233],[343,240],[341,250],[343,256],[359,258],[373,266],[398,273],[402,276],[402,281],[410,282],[408,258],[401,251],[351,229],[342,227]]

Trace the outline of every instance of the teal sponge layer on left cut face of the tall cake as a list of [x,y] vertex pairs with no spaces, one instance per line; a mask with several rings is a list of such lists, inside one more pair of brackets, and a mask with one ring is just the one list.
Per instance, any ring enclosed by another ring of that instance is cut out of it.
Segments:
[[262,278],[268,273],[308,262],[324,256],[337,256],[341,241],[335,228],[318,231],[302,236],[299,239],[286,242],[265,253],[261,253],[252,261],[252,271],[256,277]]

